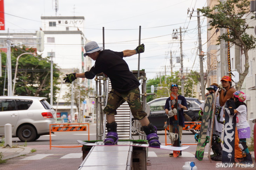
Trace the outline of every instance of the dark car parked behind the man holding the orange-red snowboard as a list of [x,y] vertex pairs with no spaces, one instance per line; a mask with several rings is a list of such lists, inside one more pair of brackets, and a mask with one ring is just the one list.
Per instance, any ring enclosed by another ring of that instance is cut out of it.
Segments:
[[[154,126],[156,126],[158,131],[164,130],[163,125],[168,117],[166,112],[164,111],[164,106],[167,98],[168,97],[157,98],[147,103],[150,107],[150,114],[148,116],[148,119]],[[199,118],[198,112],[200,111],[200,105],[202,104],[202,102],[196,98],[190,98],[190,97],[185,97],[185,98],[187,100],[187,106],[188,106],[188,110],[185,110],[185,113],[192,119],[191,121],[201,121],[201,120],[198,120]],[[185,118],[185,121],[188,121],[188,120]],[[198,124],[201,124],[201,123],[198,123]],[[134,126],[134,121],[132,121],[132,126]],[[199,133],[198,130],[190,130],[190,131],[194,134]],[[136,128],[134,127],[132,128],[132,134],[133,135],[137,134]]]

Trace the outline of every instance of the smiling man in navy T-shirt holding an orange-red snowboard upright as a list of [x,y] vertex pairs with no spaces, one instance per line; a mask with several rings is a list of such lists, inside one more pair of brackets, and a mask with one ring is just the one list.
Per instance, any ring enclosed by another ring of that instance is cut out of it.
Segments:
[[[178,135],[179,135],[180,143],[181,143],[182,129],[183,129],[183,127],[185,127],[185,123],[184,123],[185,120],[184,120],[184,115],[183,114],[184,114],[184,110],[188,110],[187,100],[184,96],[181,96],[181,95],[178,94],[178,85],[177,84],[171,84],[170,90],[171,90],[171,92],[176,93],[177,96],[178,96],[178,133],[179,133]],[[168,97],[166,99],[164,110],[166,111],[166,114],[168,114],[169,110],[171,110],[171,98],[170,97]],[[169,132],[170,133],[173,133],[173,120],[174,120],[174,117],[170,117],[170,125],[169,125]],[[180,151],[179,156],[181,156],[181,155],[182,154],[181,154],[181,151]],[[173,153],[170,153],[169,156],[172,157]]]

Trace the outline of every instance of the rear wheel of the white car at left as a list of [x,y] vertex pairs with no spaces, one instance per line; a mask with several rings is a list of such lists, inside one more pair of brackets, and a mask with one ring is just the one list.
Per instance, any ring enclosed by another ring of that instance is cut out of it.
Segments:
[[23,125],[19,128],[17,135],[22,142],[31,142],[36,138],[36,130],[33,126]]

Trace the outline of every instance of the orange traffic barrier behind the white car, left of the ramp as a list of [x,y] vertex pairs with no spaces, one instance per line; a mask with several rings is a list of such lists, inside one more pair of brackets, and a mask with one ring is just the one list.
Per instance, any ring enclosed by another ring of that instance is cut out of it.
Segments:
[[[56,126],[59,125],[59,126]],[[62,126],[60,126],[62,125]],[[63,126],[63,125],[78,125],[78,126]],[[85,125],[85,126],[79,126],[79,125]],[[53,126],[53,127],[52,127]],[[52,132],[70,132],[70,131],[87,131],[87,126],[88,126],[88,140],[90,140],[90,128],[89,128],[89,124],[88,123],[74,123],[74,124],[70,124],[70,123],[64,123],[64,124],[50,124],[50,149],[52,149],[52,147],[55,148],[79,148],[82,146],[52,146]]]

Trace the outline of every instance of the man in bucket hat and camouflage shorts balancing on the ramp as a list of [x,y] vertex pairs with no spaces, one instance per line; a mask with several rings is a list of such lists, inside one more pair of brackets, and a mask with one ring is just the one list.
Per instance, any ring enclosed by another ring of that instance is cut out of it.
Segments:
[[76,78],[93,79],[96,74],[104,73],[111,81],[112,90],[108,94],[108,101],[103,112],[106,114],[107,135],[104,140],[105,145],[116,145],[118,141],[117,123],[115,122],[116,109],[121,104],[127,102],[135,119],[139,120],[143,131],[147,135],[148,144],[151,147],[160,147],[159,137],[155,132],[155,127],[148,120],[147,113],[142,110],[140,102],[140,82],[134,76],[123,57],[133,56],[144,52],[144,44],[134,50],[124,50],[116,52],[112,50],[102,50],[103,47],[92,41],[85,45],[84,57],[89,56],[95,61],[94,66],[85,73],[66,74],[63,79],[66,83],[72,83]]

